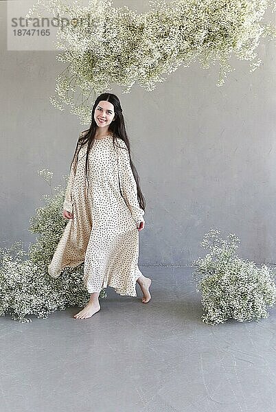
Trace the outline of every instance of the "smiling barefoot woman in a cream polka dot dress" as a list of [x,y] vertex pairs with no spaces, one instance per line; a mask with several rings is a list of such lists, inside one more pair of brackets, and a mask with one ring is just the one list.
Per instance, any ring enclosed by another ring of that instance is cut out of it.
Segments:
[[142,302],[150,300],[151,279],[137,265],[144,212],[121,104],[116,95],[102,93],[90,128],[78,139],[62,212],[69,222],[48,266],[58,277],[62,268],[84,262],[84,286],[91,295],[76,319],[100,310],[98,297],[107,286],[119,295],[137,296],[138,282]]

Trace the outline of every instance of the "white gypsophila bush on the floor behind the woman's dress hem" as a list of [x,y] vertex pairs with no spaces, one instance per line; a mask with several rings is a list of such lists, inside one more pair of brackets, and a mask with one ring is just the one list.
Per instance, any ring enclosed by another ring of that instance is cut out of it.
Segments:
[[[51,186],[53,174],[49,170],[38,174]],[[55,310],[85,306],[89,300],[83,284],[84,264],[65,268],[58,278],[48,274],[47,266],[67,224],[62,218],[65,187],[51,187],[51,192],[52,197],[43,196],[45,206],[38,207],[30,218],[29,230],[36,234],[36,242],[30,244],[29,251],[23,250],[21,241],[0,248],[0,316],[10,313],[14,320],[31,322],[27,315],[47,318]],[[104,297],[102,289],[100,299]]]

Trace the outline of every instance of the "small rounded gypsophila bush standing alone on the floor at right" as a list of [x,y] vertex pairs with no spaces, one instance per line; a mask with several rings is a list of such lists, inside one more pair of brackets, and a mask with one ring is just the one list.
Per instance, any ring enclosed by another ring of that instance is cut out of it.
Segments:
[[209,249],[205,258],[192,264],[197,292],[202,295],[203,322],[211,325],[227,319],[239,322],[260,321],[269,316],[267,307],[276,303],[275,273],[266,265],[235,255],[240,240],[229,233],[227,240],[218,238],[220,231],[211,229],[201,246]]

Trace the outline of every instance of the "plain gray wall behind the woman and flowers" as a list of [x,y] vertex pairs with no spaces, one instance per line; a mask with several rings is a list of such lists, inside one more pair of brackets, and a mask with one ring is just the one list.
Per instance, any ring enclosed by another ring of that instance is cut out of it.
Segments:
[[[114,1],[138,12],[148,1]],[[49,103],[61,63],[54,52],[7,52],[1,13],[1,247],[22,239],[49,187],[37,171],[69,172],[85,126]],[[274,19],[275,16],[268,16]],[[238,252],[276,262],[275,46],[260,42],[263,65],[235,61],[225,85],[218,65],[179,68],[152,92],[113,89],[124,108],[133,160],[147,201],[140,265],[186,265],[203,256],[211,227],[236,233]]]

